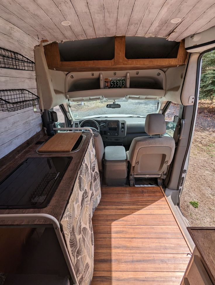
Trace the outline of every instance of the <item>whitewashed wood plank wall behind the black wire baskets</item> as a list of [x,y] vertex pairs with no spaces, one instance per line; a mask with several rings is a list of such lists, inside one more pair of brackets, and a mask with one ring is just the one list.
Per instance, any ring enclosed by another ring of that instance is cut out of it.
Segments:
[[[8,36],[0,33],[0,46],[21,53],[34,61],[32,37],[22,34],[22,37],[19,35],[20,38],[15,39],[12,33],[13,30]],[[37,94],[36,88],[35,71],[0,68],[0,90],[27,89]],[[0,158],[39,132],[42,129],[41,122],[40,113],[34,113],[32,107],[15,112],[0,111]]]

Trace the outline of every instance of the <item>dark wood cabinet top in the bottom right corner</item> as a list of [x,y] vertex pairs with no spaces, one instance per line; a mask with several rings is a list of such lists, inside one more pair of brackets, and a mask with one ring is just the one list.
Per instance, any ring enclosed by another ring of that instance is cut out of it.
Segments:
[[215,228],[190,227],[187,228],[197,250],[207,267],[210,277],[215,282]]

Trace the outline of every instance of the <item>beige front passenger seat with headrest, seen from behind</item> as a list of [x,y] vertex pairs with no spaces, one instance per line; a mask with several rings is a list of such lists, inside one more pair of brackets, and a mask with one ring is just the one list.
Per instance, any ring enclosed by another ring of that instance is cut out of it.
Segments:
[[174,139],[162,135],[166,133],[164,115],[148,114],[145,119],[145,132],[149,136],[134,138],[126,153],[130,163],[131,186],[133,186],[134,177],[165,178],[167,167],[174,155]]

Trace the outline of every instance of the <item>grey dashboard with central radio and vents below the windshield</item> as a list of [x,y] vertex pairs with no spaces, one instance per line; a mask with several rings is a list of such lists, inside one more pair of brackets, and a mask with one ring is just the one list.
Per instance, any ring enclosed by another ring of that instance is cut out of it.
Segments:
[[[95,120],[100,126],[100,135],[105,146],[108,145],[124,145],[130,146],[131,141],[135,137],[148,135],[145,133],[145,118],[136,117],[108,117],[108,118],[89,118]],[[73,127],[86,119],[74,120]],[[85,122],[83,127],[93,127],[97,129],[95,123]]]

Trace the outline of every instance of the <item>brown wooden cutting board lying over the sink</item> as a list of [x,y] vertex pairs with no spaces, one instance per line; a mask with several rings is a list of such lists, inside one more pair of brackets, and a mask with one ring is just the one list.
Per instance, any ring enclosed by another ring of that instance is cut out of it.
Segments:
[[39,153],[69,153],[82,132],[57,133],[38,149]]

